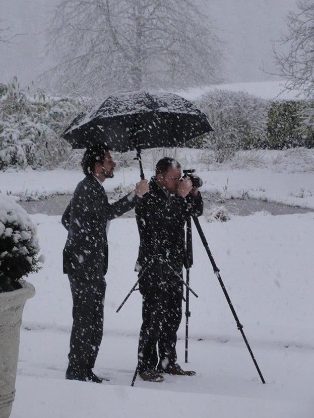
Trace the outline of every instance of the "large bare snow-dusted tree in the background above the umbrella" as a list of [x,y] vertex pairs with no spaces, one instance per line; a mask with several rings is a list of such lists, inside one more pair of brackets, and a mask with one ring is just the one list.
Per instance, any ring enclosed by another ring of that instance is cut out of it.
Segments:
[[[54,86],[91,95],[219,80],[221,44],[193,0],[62,0],[49,28]],[[53,75],[53,77],[51,76]]]

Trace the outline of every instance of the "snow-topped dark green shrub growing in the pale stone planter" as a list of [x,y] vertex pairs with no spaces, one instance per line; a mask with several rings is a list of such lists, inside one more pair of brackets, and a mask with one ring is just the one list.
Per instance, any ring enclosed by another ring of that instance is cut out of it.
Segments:
[[20,278],[40,269],[36,227],[12,197],[0,193],[0,292],[19,289]]

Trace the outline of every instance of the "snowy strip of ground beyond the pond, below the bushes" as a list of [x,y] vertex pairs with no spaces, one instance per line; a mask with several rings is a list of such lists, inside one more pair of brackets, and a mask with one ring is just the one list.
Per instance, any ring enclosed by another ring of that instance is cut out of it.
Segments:
[[[129,153],[129,159],[134,157]],[[143,152],[144,172],[150,178],[157,162],[153,151]],[[220,192],[226,198],[257,198],[314,209],[314,150],[241,152],[231,163],[205,163],[208,151],[177,149],[171,155],[182,168],[196,168],[204,192]],[[161,155],[159,155],[161,157]],[[158,158],[159,158],[158,157]],[[135,164],[135,163],[134,163]],[[36,198],[71,194],[84,178],[81,170],[6,171],[0,173],[0,192]],[[120,168],[104,183],[106,191],[139,181],[138,165]]]

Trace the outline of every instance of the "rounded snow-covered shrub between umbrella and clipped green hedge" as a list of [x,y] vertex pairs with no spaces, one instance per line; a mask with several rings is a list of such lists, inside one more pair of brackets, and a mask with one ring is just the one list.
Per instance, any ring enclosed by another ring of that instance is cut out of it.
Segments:
[[196,100],[195,105],[214,128],[196,145],[214,150],[217,162],[229,160],[238,150],[264,148],[267,101],[244,92],[212,90]]

